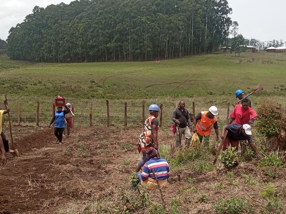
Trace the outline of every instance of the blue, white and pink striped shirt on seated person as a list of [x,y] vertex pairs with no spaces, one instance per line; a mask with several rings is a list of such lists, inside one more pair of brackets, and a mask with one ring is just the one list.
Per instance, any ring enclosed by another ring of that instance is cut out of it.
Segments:
[[151,158],[149,161],[147,161],[143,166],[141,176],[156,180],[151,167],[154,170],[158,180],[166,180],[170,176],[169,164],[163,158]]

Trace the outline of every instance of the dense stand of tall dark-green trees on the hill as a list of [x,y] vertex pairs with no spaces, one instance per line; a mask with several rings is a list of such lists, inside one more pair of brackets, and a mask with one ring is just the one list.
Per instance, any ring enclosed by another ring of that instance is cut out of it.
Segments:
[[9,31],[11,59],[112,62],[212,53],[232,21],[226,0],[80,0],[35,6]]

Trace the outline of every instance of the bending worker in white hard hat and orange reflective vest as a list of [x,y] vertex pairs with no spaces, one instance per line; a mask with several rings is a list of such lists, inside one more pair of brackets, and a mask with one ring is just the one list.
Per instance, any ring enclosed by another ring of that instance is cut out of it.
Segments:
[[205,144],[209,141],[209,135],[214,126],[215,134],[218,137],[218,125],[217,125],[217,107],[211,106],[209,111],[202,111],[195,117],[195,130],[197,132],[200,142],[203,141],[203,136],[205,136]]

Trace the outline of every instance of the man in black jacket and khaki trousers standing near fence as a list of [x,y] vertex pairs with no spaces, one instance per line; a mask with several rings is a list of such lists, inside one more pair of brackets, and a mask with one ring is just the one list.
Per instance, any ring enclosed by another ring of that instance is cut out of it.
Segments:
[[189,145],[192,138],[192,122],[189,116],[189,111],[185,108],[185,101],[181,100],[179,107],[173,111],[172,121],[176,126],[176,147],[181,145],[182,134],[185,136],[185,145]]

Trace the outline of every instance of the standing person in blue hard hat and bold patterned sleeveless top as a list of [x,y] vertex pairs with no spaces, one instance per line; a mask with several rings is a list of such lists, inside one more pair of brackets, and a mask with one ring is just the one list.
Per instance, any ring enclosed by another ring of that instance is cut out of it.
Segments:
[[140,153],[142,151],[143,157],[136,167],[136,172],[138,172],[141,167],[144,166],[147,161],[149,161],[149,158],[146,156],[146,151],[151,147],[158,150],[157,134],[159,129],[159,121],[157,117],[160,110],[158,105],[152,104],[149,106],[148,111],[150,114],[145,120],[144,129],[138,141],[138,152]]

